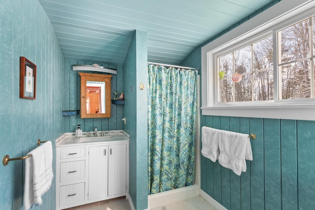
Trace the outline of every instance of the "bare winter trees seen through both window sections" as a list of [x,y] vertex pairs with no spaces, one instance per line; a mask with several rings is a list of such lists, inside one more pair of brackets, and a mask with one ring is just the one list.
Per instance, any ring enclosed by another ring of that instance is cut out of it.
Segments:
[[[220,103],[314,98],[315,16],[217,58]],[[273,39],[278,46],[273,47]],[[273,51],[277,50],[277,75]],[[232,76],[242,75],[240,82]],[[217,74],[218,75],[218,74]],[[278,78],[278,79],[277,79]],[[274,86],[274,79],[279,87]]]

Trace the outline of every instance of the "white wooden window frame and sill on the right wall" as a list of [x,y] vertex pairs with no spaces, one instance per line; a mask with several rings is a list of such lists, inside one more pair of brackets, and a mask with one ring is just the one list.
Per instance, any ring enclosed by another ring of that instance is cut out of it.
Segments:
[[[202,64],[202,115],[255,117],[292,120],[315,120],[315,98],[278,100],[279,78],[277,59],[274,59],[274,100],[218,103],[216,55],[227,49],[237,49],[268,35],[276,37],[277,31],[288,25],[315,15],[315,2],[282,0],[249,21],[223,34],[201,48]],[[273,39],[277,46],[277,39]],[[278,48],[274,47],[274,58]],[[289,115],[289,116],[288,116]]]

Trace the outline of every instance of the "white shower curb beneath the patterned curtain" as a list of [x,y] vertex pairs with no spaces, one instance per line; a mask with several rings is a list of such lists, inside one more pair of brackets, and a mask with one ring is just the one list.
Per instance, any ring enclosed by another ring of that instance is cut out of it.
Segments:
[[199,186],[194,184],[187,187],[148,195],[148,208],[153,209],[162,205],[174,203],[199,195]]

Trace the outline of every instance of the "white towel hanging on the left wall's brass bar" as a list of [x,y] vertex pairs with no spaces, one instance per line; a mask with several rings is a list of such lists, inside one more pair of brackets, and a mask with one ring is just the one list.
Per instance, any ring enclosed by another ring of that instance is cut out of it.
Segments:
[[25,159],[24,210],[42,204],[41,196],[51,187],[53,180],[53,150],[50,141],[32,150]]

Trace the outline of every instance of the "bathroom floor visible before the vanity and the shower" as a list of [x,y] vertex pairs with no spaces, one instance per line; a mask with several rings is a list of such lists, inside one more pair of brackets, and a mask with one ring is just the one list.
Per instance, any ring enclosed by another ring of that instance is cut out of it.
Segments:
[[[126,197],[114,198],[95,202],[83,206],[72,207],[66,210],[131,210]],[[216,210],[201,196],[195,196],[183,201],[174,202],[151,210]]]

